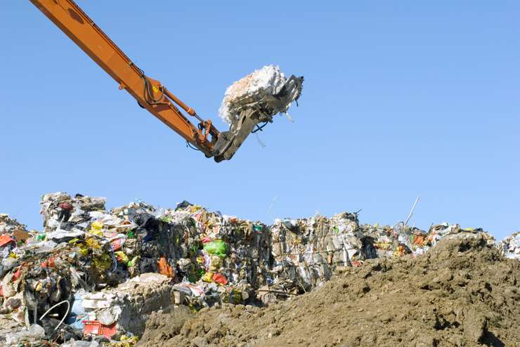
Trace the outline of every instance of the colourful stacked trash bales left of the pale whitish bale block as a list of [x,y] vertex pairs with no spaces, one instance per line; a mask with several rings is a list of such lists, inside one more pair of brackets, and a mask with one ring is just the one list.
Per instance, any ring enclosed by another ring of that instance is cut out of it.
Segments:
[[[106,211],[104,198],[58,192],[44,195],[41,215],[43,232],[23,244],[9,234],[13,242],[2,248],[0,319],[9,324],[0,329],[8,327],[1,332],[11,343],[38,332],[34,323],[58,341],[129,339],[153,310],[174,301],[195,309],[243,303],[267,277],[266,225],[186,202],[175,210],[137,202]],[[141,290],[143,278],[152,284]],[[53,318],[41,319],[51,308]],[[57,325],[60,337],[51,332]]]

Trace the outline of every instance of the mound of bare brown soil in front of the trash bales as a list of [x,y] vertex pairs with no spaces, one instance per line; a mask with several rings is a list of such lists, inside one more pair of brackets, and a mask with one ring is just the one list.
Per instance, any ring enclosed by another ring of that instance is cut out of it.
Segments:
[[519,277],[519,261],[458,235],[268,308],[204,309],[181,329],[164,315],[142,346],[520,346]]

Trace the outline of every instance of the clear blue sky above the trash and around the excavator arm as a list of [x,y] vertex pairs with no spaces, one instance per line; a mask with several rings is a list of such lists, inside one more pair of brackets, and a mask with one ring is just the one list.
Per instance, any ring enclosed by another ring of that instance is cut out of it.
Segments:
[[[147,5],[145,5],[145,2]],[[268,64],[299,107],[216,164],[117,89],[30,1],[0,1],[0,212],[41,229],[46,192],[108,207],[183,199],[260,219],[520,229],[519,1],[86,1],[79,6],[203,117]]]

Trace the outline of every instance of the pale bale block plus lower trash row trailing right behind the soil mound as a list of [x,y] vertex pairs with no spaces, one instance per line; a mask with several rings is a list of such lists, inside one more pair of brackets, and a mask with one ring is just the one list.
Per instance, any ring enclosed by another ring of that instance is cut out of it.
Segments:
[[493,236],[481,229],[442,223],[429,232],[398,223],[360,225],[357,214],[345,212],[332,218],[314,216],[277,219],[271,225],[273,263],[271,277],[259,289],[264,303],[301,294],[322,285],[346,266],[360,266],[371,258],[417,256],[448,235],[482,235],[494,245]]

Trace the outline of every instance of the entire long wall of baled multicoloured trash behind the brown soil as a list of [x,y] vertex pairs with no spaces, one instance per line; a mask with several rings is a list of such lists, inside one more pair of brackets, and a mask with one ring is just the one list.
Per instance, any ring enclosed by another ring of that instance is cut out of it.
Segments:
[[[448,223],[425,232],[405,223],[360,225],[357,214],[345,212],[268,226],[188,202],[175,209],[132,202],[110,211],[105,203],[44,195],[39,232],[0,215],[0,344],[131,345],[150,316],[172,305],[271,306],[372,259],[420,256],[453,235],[494,248],[483,230]],[[500,250],[518,256],[517,236]]]

